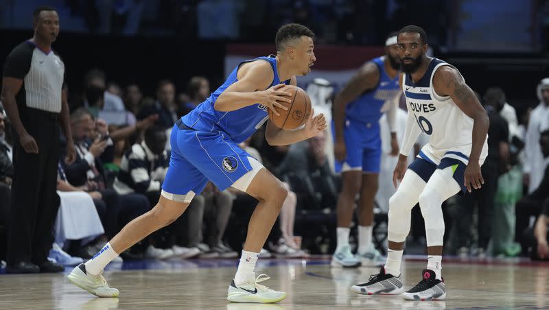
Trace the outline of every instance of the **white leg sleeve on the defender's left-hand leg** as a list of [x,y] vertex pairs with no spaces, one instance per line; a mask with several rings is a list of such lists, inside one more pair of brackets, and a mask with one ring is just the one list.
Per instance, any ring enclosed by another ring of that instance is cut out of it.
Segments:
[[411,210],[417,204],[425,182],[414,173],[406,171],[397,192],[389,198],[388,239],[404,242],[410,232]]

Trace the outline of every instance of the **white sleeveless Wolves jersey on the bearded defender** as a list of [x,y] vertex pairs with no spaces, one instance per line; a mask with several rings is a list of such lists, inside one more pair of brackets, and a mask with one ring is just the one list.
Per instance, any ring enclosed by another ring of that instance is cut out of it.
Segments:
[[[449,96],[435,93],[432,83],[434,73],[442,66],[451,64],[433,58],[417,83],[412,82],[410,75],[405,73],[402,91],[406,96],[408,112],[412,113],[421,131],[429,136],[429,142],[421,149],[419,157],[436,165],[443,157],[455,158],[467,164],[471,154],[473,119],[465,115]],[[488,145],[484,141],[481,165],[487,154]]]

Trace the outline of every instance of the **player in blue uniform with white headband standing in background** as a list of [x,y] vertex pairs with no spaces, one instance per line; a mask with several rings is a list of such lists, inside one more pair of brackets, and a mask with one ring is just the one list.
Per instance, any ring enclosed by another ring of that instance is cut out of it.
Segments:
[[[397,55],[397,33],[385,43],[385,56],[366,62],[334,101],[334,152],[336,171],[342,175],[338,198],[338,245],[332,256],[334,267],[377,266],[384,257],[372,243],[373,201],[382,156],[379,118],[387,111],[393,156],[397,156],[395,99],[399,88],[400,61]],[[353,219],[355,197],[358,203],[358,251],[351,253],[349,227]]]

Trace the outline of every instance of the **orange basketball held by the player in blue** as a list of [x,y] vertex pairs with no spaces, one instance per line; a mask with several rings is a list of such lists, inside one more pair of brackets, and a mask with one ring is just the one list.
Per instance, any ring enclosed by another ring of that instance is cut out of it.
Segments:
[[274,126],[283,130],[292,130],[302,126],[311,114],[311,99],[303,89],[294,85],[286,85],[278,90],[291,93],[292,102],[280,102],[280,104],[288,106],[288,110],[277,108],[279,116],[269,110],[270,121],[274,123]]

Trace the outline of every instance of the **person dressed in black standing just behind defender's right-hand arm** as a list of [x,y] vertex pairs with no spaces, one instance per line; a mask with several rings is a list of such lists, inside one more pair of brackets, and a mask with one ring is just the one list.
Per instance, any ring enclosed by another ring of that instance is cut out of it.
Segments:
[[[480,96],[479,101],[481,101]],[[504,101],[500,97],[498,100],[489,100],[484,102],[484,108],[488,112],[490,119],[490,128],[488,130],[488,156],[482,165],[482,177],[484,185],[471,193],[465,193],[458,198],[457,213],[454,225],[458,234],[458,247],[471,247],[471,223],[473,222],[474,208],[478,210],[478,244],[477,251],[479,257],[484,257],[488,242],[491,238],[492,219],[494,213],[494,197],[498,189],[498,178],[500,173],[509,171],[509,125],[507,121],[500,116],[500,110],[503,108]],[[460,253],[464,253],[461,249]]]

